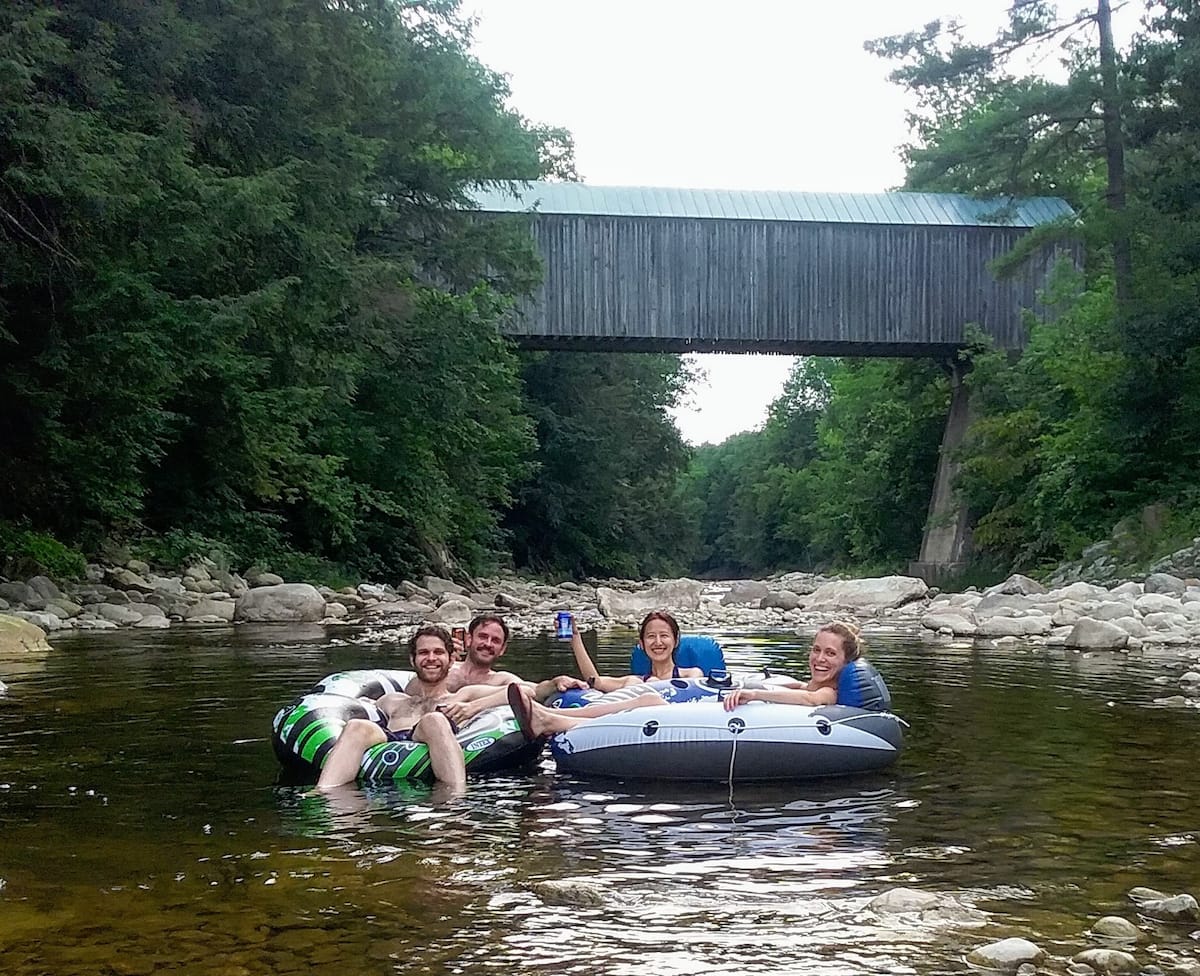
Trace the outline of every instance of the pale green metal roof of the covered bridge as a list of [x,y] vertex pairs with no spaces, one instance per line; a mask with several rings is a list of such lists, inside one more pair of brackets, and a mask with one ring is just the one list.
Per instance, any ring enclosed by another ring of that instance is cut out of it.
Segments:
[[953,227],[1036,227],[1072,215],[1057,197],[978,199],[960,193],[809,193],[677,190],[582,182],[494,182],[472,194],[486,212],[698,217]]

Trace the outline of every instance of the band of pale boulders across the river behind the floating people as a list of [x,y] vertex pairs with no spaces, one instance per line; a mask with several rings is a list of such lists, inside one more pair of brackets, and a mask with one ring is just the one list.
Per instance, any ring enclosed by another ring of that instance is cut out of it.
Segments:
[[[17,621],[54,635],[64,630],[230,627],[240,622],[324,622],[402,629],[422,622],[462,625],[481,611],[502,613],[516,634],[546,631],[559,610],[587,628],[635,624],[650,609],[671,610],[688,630],[811,630],[832,617],[872,630],[930,641],[1046,645],[1079,652],[1178,648],[1198,659],[1200,580],[1151,573],[1102,586],[1075,581],[1049,588],[1027,576],[962,593],[941,593],[910,576],[833,580],[786,574],[769,580],[558,583],[503,575],[476,589],[427,576],[421,582],[361,583],[330,589],[286,582],[270,573],[241,576],[208,561],[161,574],[137,559],[88,568],[84,582],[46,576],[0,581],[0,641],[34,640]],[[7,635],[7,636],[6,636]],[[1200,695],[1200,672],[1181,676],[1184,703]]]

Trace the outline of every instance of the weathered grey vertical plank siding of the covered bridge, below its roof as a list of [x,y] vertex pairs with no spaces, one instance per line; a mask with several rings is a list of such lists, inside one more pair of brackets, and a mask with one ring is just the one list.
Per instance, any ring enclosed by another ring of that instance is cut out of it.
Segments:
[[960,345],[979,323],[1024,345],[1048,259],[997,282],[988,263],[1025,233],[536,215],[546,279],[518,335],[562,339]]

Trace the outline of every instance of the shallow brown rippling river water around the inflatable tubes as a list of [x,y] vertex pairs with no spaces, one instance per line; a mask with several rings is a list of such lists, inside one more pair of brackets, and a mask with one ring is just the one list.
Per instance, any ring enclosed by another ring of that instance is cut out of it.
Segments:
[[[716,633],[733,667],[800,670],[792,634]],[[604,636],[622,672],[630,634]],[[355,666],[360,633],[252,628],[61,639],[0,661],[0,971],[32,974],[941,974],[1008,935],[1050,953],[1100,915],[1144,965],[1200,960],[1138,885],[1200,894],[1200,712],[1156,706],[1171,657],[878,637],[911,724],[884,773],[788,786],[581,782],[547,760],[330,802],[280,785],[275,709]],[[515,640],[505,664],[570,655]],[[572,882],[544,886],[542,882]],[[954,896],[974,926],[866,908]]]

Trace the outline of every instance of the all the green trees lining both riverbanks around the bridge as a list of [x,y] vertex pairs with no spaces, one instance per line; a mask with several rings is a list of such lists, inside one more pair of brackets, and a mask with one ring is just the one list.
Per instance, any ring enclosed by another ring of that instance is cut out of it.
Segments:
[[[1078,214],[1024,355],[966,353],[959,486],[1004,570],[1152,503],[1200,531],[1200,5],[1124,53],[1105,2],[1050,6],[871,44],[916,97],[906,188]],[[761,431],[690,450],[678,357],[500,337],[538,262],[470,188],[575,178],[506,100],[454,0],[4,5],[0,571],[112,540],[326,580],[912,558],[946,364],[802,360]]]

